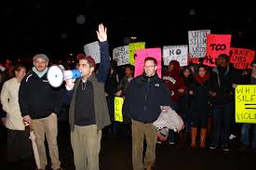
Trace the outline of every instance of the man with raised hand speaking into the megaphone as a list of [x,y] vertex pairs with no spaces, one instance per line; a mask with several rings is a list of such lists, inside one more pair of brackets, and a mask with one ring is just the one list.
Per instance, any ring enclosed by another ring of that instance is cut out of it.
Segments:
[[101,65],[98,72],[94,73],[94,59],[79,54],[76,58],[79,60],[78,70],[81,72],[81,78],[75,82],[73,79],[65,81],[65,97],[71,98],[69,123],[76,170],[100,169],[101,129],[111,124],[104,94],[110,58],[107,30],[103,24],[99,25],[97,35],[101,50]]

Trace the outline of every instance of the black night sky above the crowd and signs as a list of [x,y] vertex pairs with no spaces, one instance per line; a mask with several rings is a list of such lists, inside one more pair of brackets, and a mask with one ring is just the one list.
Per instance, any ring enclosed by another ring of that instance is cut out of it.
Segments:
[[111,51],[128,43],[124,39],[130,36],[146,41],[146,47],[184,45],[189,30],[231,33],[232,46],[256,49],[256,10],[251,4],[167,2],[8,1],[1,6],[1,60],[36,53],[66,59],[97,40],[101,22],[108,29]]

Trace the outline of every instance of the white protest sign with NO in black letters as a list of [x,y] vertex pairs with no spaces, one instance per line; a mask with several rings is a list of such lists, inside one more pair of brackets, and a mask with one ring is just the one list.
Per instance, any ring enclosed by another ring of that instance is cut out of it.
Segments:
[[163,47],[164,65],[168,66],[169,61],[177,60],[180,66],[188,65],[188,50],[187,45],[182,46],[164,46]]

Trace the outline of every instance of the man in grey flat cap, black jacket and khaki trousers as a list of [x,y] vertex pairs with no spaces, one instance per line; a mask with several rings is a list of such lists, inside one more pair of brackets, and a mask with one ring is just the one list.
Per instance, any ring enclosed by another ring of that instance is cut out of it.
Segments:
[[48,58],[45,54],[34,56],[34,67],[20,83],[19,104],[24,122],[33,124],[41,168],[46,169],[45,136],[52,169],[61,169],[57,145],[57,113],[61,109],[61,89],[47,82]]

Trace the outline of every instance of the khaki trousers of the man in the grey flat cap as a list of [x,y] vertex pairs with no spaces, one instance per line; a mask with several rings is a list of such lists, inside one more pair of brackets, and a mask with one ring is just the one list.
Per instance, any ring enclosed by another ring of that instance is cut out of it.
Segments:
[[42,119],[32,120],[35,142],[37,144],[41,168],[46,169],[47,166],[47,152],[45,146],[45,136],[47,137],[47,144],[49,156],[51,159],[51,168],[58,169],[61,167],[59,161],[59,150],[57,145],[58,136],[58,122],[57,115],[51,113],[48,117]]

